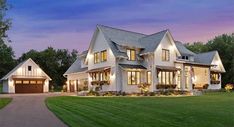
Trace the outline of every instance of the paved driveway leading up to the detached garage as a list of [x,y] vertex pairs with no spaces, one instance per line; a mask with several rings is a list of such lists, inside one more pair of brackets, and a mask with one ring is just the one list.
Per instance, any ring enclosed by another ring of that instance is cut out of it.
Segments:
[[0,127],[67,127],[47,109],[44,103],[46,97],[58,95],[14,94],[3,96],[11,96],[13,100],[0,110]]

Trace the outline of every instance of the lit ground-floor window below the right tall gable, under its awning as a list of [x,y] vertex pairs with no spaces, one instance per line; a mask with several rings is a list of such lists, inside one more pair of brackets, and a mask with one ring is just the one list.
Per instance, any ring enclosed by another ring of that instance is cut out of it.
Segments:
[[158,73],[158,83],[163,85],[174,84],[173,71],[159,71]]

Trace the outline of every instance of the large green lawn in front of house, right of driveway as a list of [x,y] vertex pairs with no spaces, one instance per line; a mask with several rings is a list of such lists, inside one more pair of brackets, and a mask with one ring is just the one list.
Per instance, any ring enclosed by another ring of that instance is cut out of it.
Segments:
[[196,97],[51,97],[72,127],[234,127],[234,93]]

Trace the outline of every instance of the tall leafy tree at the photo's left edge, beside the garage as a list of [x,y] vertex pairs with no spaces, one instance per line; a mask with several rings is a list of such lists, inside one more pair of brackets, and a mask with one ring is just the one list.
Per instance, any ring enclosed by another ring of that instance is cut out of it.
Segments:
[[0,0],[0,77],[7,74],[16,64],[14,52],[6,43],[10,42],[7,31],[11,26],[10,19],[5,18],[9,5],[5,0]]

